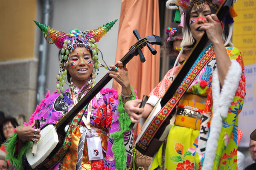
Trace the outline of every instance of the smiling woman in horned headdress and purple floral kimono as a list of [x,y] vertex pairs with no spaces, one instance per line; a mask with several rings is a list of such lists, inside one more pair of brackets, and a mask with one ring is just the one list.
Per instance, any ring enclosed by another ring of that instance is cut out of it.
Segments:
[[[109,69],[107,65],[99,63],[98,53],[101,51],[96,42],[111,29],[116,20],[95,30],[81,32],[74,29],[70,34],[35,23],[43,31],[47,42],[54,43],[60,49],[61,63],[55,93],[47,93],[28,125],[17,128],[15,135],[6,143],[9,151],[7,157],[16,170],[29,169],[24,152],[41,137],[41,130],[34,128],[35,120],[40,120],[39,128],[61,121],[95,85],[99,67]],[[108,74],[122,85],[122,94],[118,96],[114,89],[102,89],[84,108],[82,121],[79,123],[75,117],[65,127],[65,146],[45,162],[44,168],[114,170],[129,166],[133,133],[128,130],[125,121],[128,115],[123,109],[123,102],[135,99],[135,94],[128,79],[127,68],[122,62],[117,64],[117,68],[110,65],[115,71],[109,71]],[[70,85],[64,90],[66,77]]]

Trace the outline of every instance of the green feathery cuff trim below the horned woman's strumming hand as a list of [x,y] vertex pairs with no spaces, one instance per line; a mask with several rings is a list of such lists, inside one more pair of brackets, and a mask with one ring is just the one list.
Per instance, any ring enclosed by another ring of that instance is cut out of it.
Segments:
[[6,147],[6,150],[8,151],[6,158],[9,159],[9,161],[12,163],[13,167],[16,168],[16,170],[23,170],[23,155],[25,152],[31,147],[32,142],[26,142],[23,147],[19,150],[17,158],[14,156],[15,150],[16,150],[16,144],[18,141],[17,133],[14,133],[9,139],[6,140],[6,143],[4,144]]

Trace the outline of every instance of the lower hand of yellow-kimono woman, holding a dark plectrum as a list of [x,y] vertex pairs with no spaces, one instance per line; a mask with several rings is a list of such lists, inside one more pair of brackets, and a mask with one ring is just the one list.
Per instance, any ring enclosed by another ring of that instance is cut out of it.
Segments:
[[127,101],[125,103],[125,111],[128,113],[128,116],[130,117],[132,123],[140,122],[140,118],[143,114],[137,115],[136,113],[142,113],[144,111],[144,108],[139,108],[141,102],[141,99],[136,99]]

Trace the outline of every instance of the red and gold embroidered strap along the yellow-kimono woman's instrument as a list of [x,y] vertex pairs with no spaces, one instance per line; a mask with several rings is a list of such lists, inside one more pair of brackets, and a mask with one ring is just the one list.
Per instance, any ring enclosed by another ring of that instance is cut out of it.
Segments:
[[[206,49],[208,50],[208,46]],[[142,150],[147,149],[151,140],[154,138],[154,135],[157,132],[157,130],[161,127],[163,122],[165,122],[166,118],[169,116],[169,113],[173,111],[175,106],[178,104],[180,98],[183,96],[183,94],[185,94],[186,90],[191,85],[192,81],[195,79],[195,77],[198,75],[198,73],[207,63],[207,61],[214,54],[214,50],[212,47],[209,48],[209,51],[205,51],[205,52],[206,54],[204,55],[204,57],[201,57],[199,62],[196,62],[197,64],[192,66],[191,70],[189,71],[189,74],[186,76],[183,83],[177,89],[175,95],[169,100],[169,102],[166,103],[166,105],[163,106],[161,111],[157,113],[157,115],[152,120],[151,125],[149,125],[145,130],[145,132],[143,133],[142,138],[137,143],[137,146],[140,147]],[[204,51],[202,53],[204,53]],[[200,56],[198,58],[200,58]]]

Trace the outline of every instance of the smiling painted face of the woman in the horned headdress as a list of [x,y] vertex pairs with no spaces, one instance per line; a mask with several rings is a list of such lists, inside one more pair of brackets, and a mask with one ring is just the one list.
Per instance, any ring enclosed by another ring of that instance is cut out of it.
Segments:
[[77,47],[70,53],[67,70],[76,84],[86,82],[93,72],[93,59],[85,47]]

